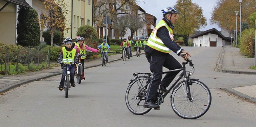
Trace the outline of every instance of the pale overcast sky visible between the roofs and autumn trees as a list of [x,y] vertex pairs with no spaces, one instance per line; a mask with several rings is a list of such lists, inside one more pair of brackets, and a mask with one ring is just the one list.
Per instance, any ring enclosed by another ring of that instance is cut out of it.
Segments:
[[[142,0],[137,0],[138,5],[145,10],[148,14],[151,14],[157,18],[156,23],[162,20],[163,15],[161,12],[162,8],[165,7],[173,7],[177,0],[144,0],[145,4]],[[197,3],[203,9],[204,17],[207,19],[207,26],[201,28],[201,31],[206,31],[208,29],[216,28],[217,30],[221,30],[217,25],[210,24],[211,12],[213,6],[216,4],[216,0],[192,0],[193,3]]]

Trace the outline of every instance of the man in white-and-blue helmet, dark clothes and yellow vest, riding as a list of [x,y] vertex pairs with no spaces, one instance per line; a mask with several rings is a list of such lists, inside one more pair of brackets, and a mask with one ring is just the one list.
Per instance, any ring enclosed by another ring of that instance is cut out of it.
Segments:
[[146,96],[145,108],[159,108],[156,104],[157,90],[166,92],[166,87],[172,82],[175,76],[180,72],[171,72],[166,74],[162,79],[163,66],[169,70],[182,68],[181,64],[170,55],[172,50],[177,55],[182,55],[186,60],[190,54],[182,49],[178,44],[174,42],[174,24],[178,19],[178,10],[176,8],[168,7],[161,10],[164,18],[156,25],[152,31],[148,44],[144,51],[146,52],[146,58],[150,63],[150,71],[153,73],[153,79],[148,86],[148,92]]

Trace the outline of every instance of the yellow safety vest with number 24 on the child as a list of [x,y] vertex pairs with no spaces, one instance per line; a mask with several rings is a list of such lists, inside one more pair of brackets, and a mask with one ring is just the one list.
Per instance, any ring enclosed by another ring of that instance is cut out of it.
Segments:
[[65,49],[65,47],[62,47],[62,53],[63,53],[63,59],[62,59],[62,62],[63,63],[74,63],[74,60],[75,60],[75,55],[76,55],[76,49],[72,49],[71,51],[67,51]]

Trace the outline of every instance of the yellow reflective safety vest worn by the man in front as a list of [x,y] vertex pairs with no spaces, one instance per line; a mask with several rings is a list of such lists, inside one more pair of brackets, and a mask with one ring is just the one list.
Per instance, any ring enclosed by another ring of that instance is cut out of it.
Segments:
[[174,35],[173,35],[173,30],[171,27],[169,27],[164,20],[159,21],[159,23],[156,25],[156,27],[153,29],[150,37],[148,38],[148,46],[151,47],[152,49],[156,49],[157,51],[163,52],[163,53],[170,53],[170,49],[164,45],[162,40],[156,36],[157,30],[165,26],[168,31],[170,38],[172,41],[174,40]]

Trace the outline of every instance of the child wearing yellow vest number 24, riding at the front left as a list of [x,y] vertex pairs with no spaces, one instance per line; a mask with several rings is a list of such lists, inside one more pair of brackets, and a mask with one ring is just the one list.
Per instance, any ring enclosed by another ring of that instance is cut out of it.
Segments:
[[[78,63],[78,57],[76,55],[76,49],[72,48],[72,39],[70,37],[67,37],[64,40],[65,47],[62,47],[62,50],[60,51],[60,55],[58,58],[58,63],[61,64],[62,68],[62,76],[60,81],[59,90],[62,91],[64,87],[65,82],[65,76],[66,76],[66,64],[70,64],[70,62],[77,64]],[[64,57],[63,57],[64,56]],[[74,64],[72,65],[72,69],[70,70],[70,84],[72,87],[75,87],[75,80],[74,80]]]

